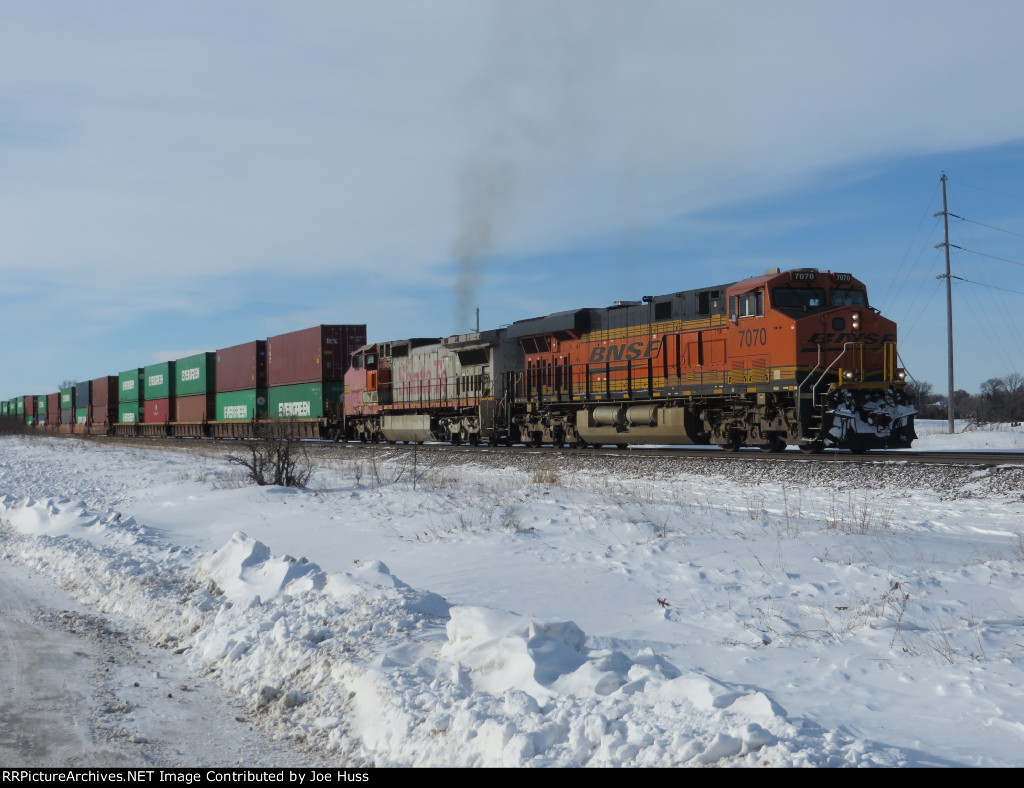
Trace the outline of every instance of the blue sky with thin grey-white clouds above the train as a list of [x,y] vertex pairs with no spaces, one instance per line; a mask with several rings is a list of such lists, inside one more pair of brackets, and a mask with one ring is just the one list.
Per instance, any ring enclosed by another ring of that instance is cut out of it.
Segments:
[[943,171],[977,391],[1024,373],[1021,30],[1009,0],[0,2],[0,397],[774,266],[864,280],[944,391]]

